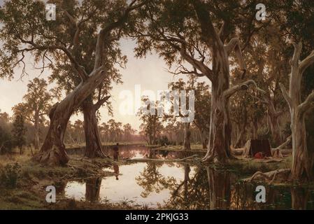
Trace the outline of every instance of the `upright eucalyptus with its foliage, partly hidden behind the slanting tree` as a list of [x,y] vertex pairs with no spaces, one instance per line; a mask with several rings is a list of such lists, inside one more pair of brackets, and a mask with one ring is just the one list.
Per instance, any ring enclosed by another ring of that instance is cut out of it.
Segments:
[[[92,3],[88,1],[83,3],[85,5],[82,5],[82,9],[80,9],[75,4],[67,2],[62,6],[62,10],[66,16],[66,22],[69,23],[73,42],[74,39],[80,38],[80,45],[74,51],[74,55],[80,65],[84,66],[85,71],[90,73],[94,66],[95,48],[93,46],[97,44],[97,29],[99,28],[97,27],[97,20],[99,20],[99,17],[92,17],[92,14],[96,12],[96,8],[92,8]],[[87,18],[91,17],[90,20],[78,19],[82,10],[86,11]],[[77,30],[79,33],[76,32]],[[106,52],[104,58],[106,58],[107,76],[78,109],[84,116],[85,156],[87,158],[104,156],[104,153],[101,151],[101,139],[98,130],[97,118],[100,114],[97,114],[97,111],[104,103],[107,104],[108,111],[112,111],[111,104],[108,101],[112,83],[122,83],[119,70],[115,66],[119,64],[121,67],[124,67],[124,64],[127,62],[117,42],[113,42],[113,45],[110,48],[106,48],[104,52]],[[65,61],[66,55],[64,55],[64,59],[54,64],[50,80],[57,82],[58,90],[64,90],[66,94],[69,94],[79,85],[80,77],[76,75],[76,70],[71,63],[64,63]]]

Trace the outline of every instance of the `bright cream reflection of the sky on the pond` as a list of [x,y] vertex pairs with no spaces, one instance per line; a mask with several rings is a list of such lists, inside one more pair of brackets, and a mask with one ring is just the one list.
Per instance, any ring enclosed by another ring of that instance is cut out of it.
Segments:
[[[119,167],[119,180],[115,176],[108,176],[101,181],[100,198],[101,200],[109,200],[110,202],[122,202],[123,200],[134,201],[135,204],[148,204],[150,207],[157,207],[157,203],[164,204],[170,197],[170,191],[161,190],[159,193],[152,192],[148,197],[141,197],[143,188],[136,183],[136,177],[140,176],[144,168],[147,166],[145,162],[138,162],[133,165],[123,165]],[[165,178],[173,177],[177,183],[184,179],[184,167],[169,166],[163,164],[157,168],[159,173]],[[113,172],[113,169],[105,169]],[[194,169],[190,172],[190,177],[194,175]],[[74,197],[76,200],[85,200],[85,183],[69,182],[66,185],[66,197]]]

